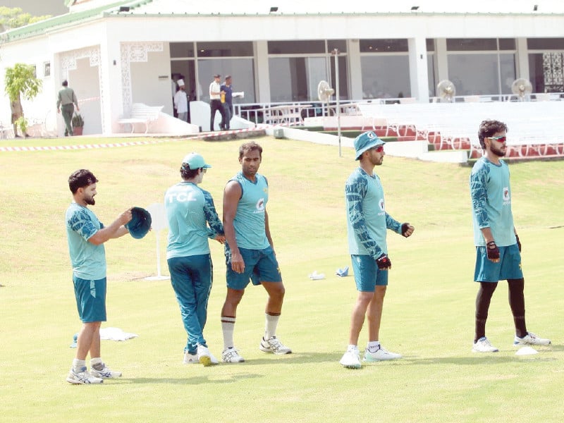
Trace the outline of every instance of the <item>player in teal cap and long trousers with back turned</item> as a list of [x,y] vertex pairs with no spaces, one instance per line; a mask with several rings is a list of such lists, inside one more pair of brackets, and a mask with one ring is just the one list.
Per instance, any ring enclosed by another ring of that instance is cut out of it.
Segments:
[[213,281],[208,238],[222,244],[225,241],[212,195],[197,186],[210,167],[200,154],[188,154],[180,166],[182,182],[168,188],[164,195],[168,219],[166,260],[188,333],[184,364],[200,362],[204,366],[218,364],[209,352],[203,333]]

